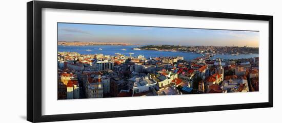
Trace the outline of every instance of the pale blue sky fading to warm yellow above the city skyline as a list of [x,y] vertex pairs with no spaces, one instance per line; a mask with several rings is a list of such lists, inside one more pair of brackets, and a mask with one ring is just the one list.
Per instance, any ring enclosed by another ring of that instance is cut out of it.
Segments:
[[58,41],[258,47],[259,32],[58,23]]

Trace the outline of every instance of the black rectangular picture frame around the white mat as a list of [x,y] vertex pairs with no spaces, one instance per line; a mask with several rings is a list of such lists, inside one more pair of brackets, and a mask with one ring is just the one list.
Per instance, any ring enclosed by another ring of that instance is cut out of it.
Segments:
[[[268,102],[234,104],[234,105],[175,107],[175,108],[163,108],[163,109],[42,115],[42,70],[43,69],[42,69],[41,58],[42,58],[42,9],[43,8],[268,21],[269,22]],[[204,111],[266,108],[266,107],[273,107],[273,16],[127,7],[127,6],[46,2],[46,1],[31,1],[27,3],[27,120],[28,121],[31,122],[62,121],[62,120],[95,119],[95,118],[109,118],[109,117],[142,116],[142,115],[204,112]]]

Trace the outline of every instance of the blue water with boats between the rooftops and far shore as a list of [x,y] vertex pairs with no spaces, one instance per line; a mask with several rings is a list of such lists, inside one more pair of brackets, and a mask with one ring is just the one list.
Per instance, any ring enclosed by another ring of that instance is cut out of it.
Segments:
[[[146,58],[150,57],[169,57],[169,56],[182,56],[185,60],[193,60],[197,57],[201,57],[201,54],[196,53],[184,53],[184,52],[168,52],[168,51],[149,51],[149,50],[132,50],[133,47],[137,47],[136,45],[87,45],[87,46],[63,46],[58,45],[58,52],[77,52],[79,54],[103,54],[114,56],[115,53],[120,53],[125,56],[130,56],[129,53],[132,54],[133,57],[138,55],[144,55]],[[123,50],[125,49],[125,50]],[[89,51],[91,50],[91,51]],[[241,59],[241,58],[252,58],[258,57],[258,54],[241,54],[238,56],[232,55],[214,55],[213,58],[221,58],[221,59]]]

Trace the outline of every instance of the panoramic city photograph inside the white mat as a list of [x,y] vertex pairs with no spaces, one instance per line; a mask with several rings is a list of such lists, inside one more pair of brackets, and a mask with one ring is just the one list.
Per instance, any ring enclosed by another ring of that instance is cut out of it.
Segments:
[[259,31],[57,23],[57,99],[259,91]]

